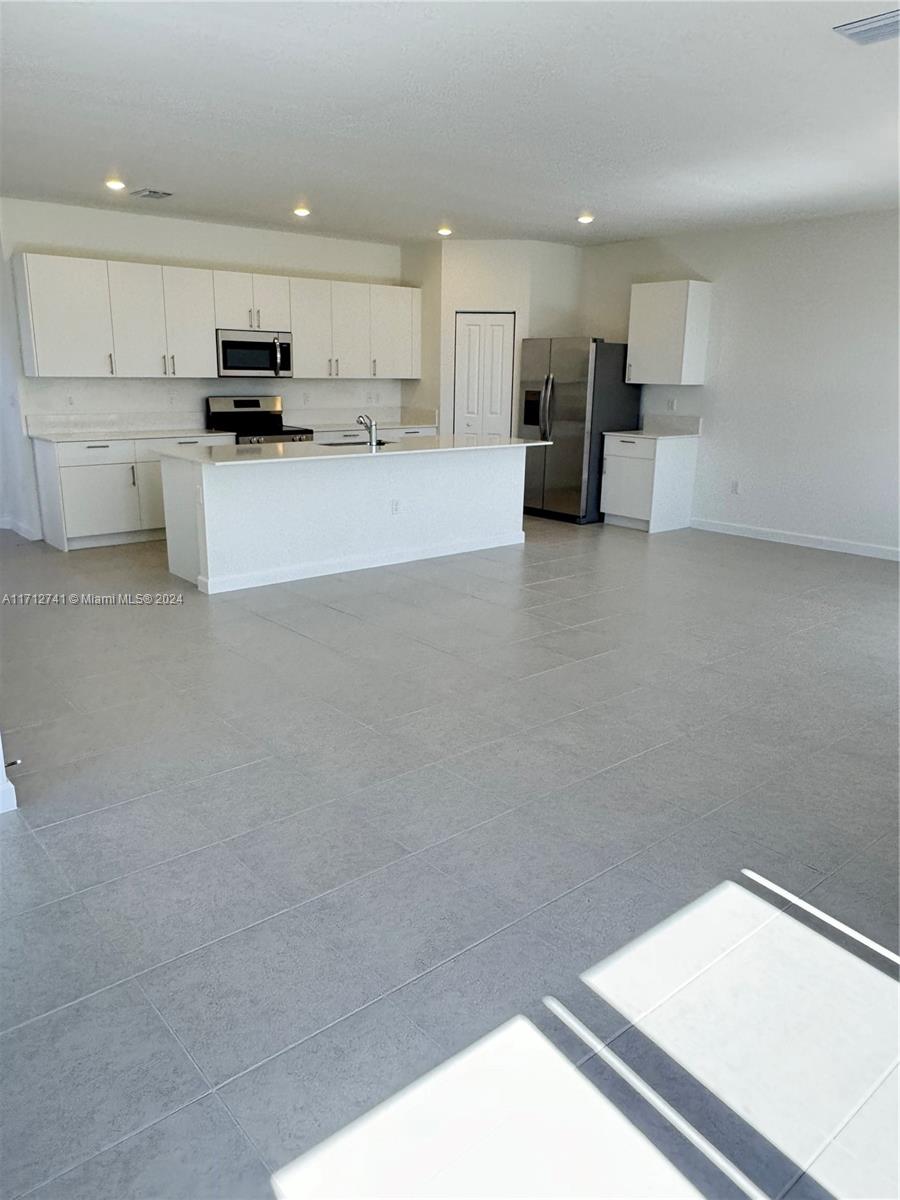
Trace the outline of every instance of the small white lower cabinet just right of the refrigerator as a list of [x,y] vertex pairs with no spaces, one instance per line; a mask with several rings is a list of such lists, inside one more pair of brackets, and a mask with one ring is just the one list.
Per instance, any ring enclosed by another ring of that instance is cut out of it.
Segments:
[[688,528],[696,468],[696,437],[607,433],[600,494],[607,524],[647,533]]

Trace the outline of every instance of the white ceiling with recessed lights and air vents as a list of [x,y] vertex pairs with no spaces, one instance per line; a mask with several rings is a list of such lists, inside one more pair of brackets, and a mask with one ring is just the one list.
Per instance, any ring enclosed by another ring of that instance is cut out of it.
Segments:
[[2,191],[390,241],[888,208],[898,44],[832,26],[890,2],[5,2]]

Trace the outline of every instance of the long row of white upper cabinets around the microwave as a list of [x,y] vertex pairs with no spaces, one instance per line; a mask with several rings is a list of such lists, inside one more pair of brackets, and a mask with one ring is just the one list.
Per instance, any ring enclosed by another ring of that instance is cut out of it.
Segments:
[[293,335],[299,379],[418,379],[421,293],[383,283],[14,254],[25,374],[215,379],[216,329]]

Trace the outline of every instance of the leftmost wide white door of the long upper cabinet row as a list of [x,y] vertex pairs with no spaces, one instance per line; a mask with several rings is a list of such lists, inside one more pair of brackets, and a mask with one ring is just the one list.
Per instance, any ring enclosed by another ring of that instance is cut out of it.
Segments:
[[112,374],[113,323],[106,262],[26,254],[25,276],[37,374]]

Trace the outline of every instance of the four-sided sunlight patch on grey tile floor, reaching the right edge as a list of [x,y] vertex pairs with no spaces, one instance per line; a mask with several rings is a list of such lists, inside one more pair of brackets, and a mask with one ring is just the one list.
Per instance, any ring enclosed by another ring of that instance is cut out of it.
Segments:
[[[734,883],[582,978],[800,1168],[822,1154],[898,1062],[894,979]],[[876,1112],[872,1128],[883,1123]],[[866,1139],[868,1153],[882,1165],[870,1162],[870,1174],[888,1187],[896,1130],[869,1145],[875,1140]],[[828,1174],[839,1163],[847,1166],[835,1151]],[[834,1194],[856,1193],[844,1178]]]

